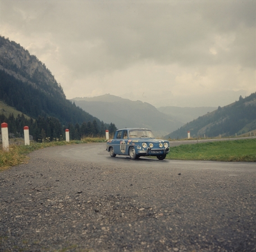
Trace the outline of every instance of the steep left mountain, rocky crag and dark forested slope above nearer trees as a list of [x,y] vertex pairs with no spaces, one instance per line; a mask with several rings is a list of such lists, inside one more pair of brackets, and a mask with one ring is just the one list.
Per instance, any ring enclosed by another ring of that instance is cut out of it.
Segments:
[[[104,124],[102,120],[67,100],[61,85],[42,62],[34,55],[30,55],[20,44],[2,36],[0,36],[0,101],[33,119],[40,118],[39,121],[44,123],[47,123],[47,118],[51,117],[52,121],[58,120],[60,125],[66,127],[94,122],[94,125],[101,127],[101,130],[111,128],[109,124]],[[3,114],[3,119],[8,119],[6,113]],[[45,125],[44,129],[46,130],[47,127],[49,128]]]

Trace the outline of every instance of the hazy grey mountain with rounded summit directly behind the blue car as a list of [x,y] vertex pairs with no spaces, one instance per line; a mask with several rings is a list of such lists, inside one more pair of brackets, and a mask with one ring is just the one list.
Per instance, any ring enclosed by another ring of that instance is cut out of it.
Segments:
[[158,111],[154,106],[142,101],[131,101],[114,95],[97,97],[76,97],[71,100],[90,114],[102,118],[104,122],[115,122],[117,128],[150,128],[161,137],[183,125],[172,116]]

